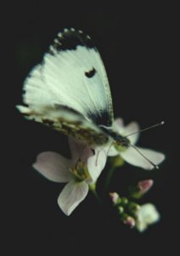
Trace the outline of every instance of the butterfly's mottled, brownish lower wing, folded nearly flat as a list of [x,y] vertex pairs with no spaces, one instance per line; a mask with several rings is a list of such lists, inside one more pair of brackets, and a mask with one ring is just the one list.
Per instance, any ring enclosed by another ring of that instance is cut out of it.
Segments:
[[82,114],[73,109],[59,105],[56,108],[43,108],[43,111],[39,113],[22,106],[18,108],[21,113],[24,113],[26,119],[40,122],[82,142],[101,145],[110,139],[97,125],[87,121]]

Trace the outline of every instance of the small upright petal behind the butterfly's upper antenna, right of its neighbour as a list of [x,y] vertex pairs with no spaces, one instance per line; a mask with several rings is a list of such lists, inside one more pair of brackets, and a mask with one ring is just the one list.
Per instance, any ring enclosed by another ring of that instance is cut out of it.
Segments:
[[[140,128],[139,128],[138,123],[132,122],[124,127],[123,135],[128,136],[128,135],[132,134],[133,132],[136,132],[139,130],[140,130]],[[137,141],[138,141],[138,137],[139,137],[139,132],[136,132],[135,134],[129,136],[128,139],[130,140],[130,143],[132,143],[132,145],[135,145],[135,143],[137,143]]]

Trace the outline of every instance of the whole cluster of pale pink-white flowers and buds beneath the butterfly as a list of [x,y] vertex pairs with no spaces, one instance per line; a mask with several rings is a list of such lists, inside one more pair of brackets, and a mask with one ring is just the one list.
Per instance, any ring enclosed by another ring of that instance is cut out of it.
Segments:
[[[95,191],[96,182],[104,170],[108,156],[112,157],[110,162],[114,169],[126,161],[132,166],[151,170],[165,159],[164,154],[154,150],[134,147],[139,137],[139,132],[134,133],[139,131],[136,122],[125,126],[122,119],[116,119],[113,129],[121,136],[128,137],[132,147],[125,148],[114,144],[92,148],[69,137],[71,159],[55,152],[43,152],[37,155],[33,165],[37,172],[50,181],[66,183],[58,197],[58,204],[67,216],[86,198],[89,189],[93,188],[93,192]],[[152,180],[139,182],[131,189],[131,198],[138,200],[152,184]],[[136,227],[139,231],[146,230],[149,224],[155,223],[160,218],[160,214],[151,203],[140,206],[136,201],[130,201],[128,197],[121,197],[115,192],[110,193],[110,198],[123,223]]]

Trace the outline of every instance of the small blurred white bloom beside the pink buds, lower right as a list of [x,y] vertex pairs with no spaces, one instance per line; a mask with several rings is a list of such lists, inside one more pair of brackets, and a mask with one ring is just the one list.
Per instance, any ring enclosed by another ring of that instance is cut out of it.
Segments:
[[155,224],[159,220],[160,213],[153,204],[144,204],[136,212],[136,228],[140,232],[143,232],[150,224]]

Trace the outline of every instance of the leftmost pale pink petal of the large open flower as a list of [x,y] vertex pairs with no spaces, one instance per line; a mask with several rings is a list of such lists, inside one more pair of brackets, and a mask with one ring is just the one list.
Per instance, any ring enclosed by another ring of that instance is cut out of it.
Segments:
[[37,155],[37,161],[33,167],[44,177],[57,183],[70,181],[72,175],[68,168],[71,161],[55,152],[42,152]]

